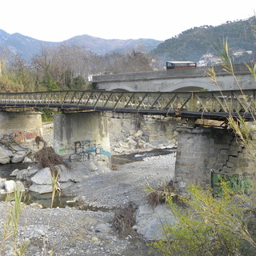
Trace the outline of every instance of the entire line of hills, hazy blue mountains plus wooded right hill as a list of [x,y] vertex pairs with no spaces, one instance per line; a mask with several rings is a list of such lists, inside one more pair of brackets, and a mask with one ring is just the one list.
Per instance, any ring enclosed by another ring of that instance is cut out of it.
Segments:
[[[170,24],[170,26],[172,25]],[[152,51],[160,57],[162,62],[166,60],[198,62],[202,56],[207,59],[212,56],[210,59],[214,59],[216,57],[214,45],[223,42],[223,38],[227,38],[230,50],[234,53],[236,60],[244,62],[247,61],[247,58],[256,58],[255,31],[255,17],[237,22],[226,22],[220,26],[194,27],[164,42],[143,38],[103,39],[86,34],[75,36],[63,42],[45,42],[22,34],[8,34],[4,30],[0,30],[0,57],[7,56],[6,58],[10,58],[10,56],[18,54],[24,60],[30,61],[36,54],[40,54],[42,46],[66,44],[82,46],[95,54],[125,53],[137,46],[144,46],[146,50]],[[208,60],[206,62],[209,63]]]

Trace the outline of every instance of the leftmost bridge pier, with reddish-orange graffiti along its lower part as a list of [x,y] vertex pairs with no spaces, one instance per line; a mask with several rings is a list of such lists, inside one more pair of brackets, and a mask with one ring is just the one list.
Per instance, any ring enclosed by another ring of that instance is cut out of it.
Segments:
[[42,136],[42,113],[0,112],[0,137],[5,134],[21,146],[37,149],[34,138]]

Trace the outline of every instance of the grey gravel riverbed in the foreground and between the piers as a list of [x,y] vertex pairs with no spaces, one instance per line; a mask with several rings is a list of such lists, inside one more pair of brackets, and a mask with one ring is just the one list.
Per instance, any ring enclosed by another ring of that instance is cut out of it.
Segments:
[[[40,209],[24,206],[19,219],[18,243],[28,242],[25,255],[148,255],[146,241],[139,235],[119,238],[111,228],[115,210],[134,202],[146,202],[145,184],[158,187],[174,176],[175,155],[144,158],[118,166],[118,170],[94,175],[63,191],[90,206],[78,210]],[[8,205],[0,203],[1,230]],[[4,242],[4,254],[13,255],[11,241]],[[154,254],[154,252],[151,255]]]

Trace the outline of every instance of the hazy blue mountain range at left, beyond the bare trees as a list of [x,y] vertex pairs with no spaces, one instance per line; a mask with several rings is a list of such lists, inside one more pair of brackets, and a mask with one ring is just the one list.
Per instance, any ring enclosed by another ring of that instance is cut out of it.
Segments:
[[146,50],[151,51],[161,42],[154,39],[103,39],[86,34],[70,38],[63,42],[46,42],[18,33],[8,34],[4,30],[0,30],[0,54],[18,54],[26,61],[30,61],[36,54],[40,54],[42,46],[77,45],[95,54],[107,54],[114,51],[125,52],[140,45],[145,46]]

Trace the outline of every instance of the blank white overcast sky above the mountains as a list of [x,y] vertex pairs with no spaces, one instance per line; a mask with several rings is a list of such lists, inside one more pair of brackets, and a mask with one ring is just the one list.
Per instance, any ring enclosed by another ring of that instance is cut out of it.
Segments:
[[82,34],[164,41],[255,13],[256,0],[0,0],[0,30],[49,42]]

